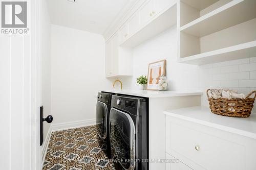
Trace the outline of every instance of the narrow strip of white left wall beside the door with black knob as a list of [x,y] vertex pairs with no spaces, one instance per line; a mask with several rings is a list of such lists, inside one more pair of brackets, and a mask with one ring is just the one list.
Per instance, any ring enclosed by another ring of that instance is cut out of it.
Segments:
[[[41,4],[41,96],[44,117],[51,114],[51,23],[47,2]],[[44,122],[44,139],[50,124]],[[46,140],[44,140],[46,142]]]

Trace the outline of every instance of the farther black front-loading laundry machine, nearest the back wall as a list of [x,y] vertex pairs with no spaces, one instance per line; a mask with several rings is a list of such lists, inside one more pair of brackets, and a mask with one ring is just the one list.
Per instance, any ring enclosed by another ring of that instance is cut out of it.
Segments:
[[110,159],[111,147],[109,138],[109,114],[111,109],[112,93],[99,92],[96,104],[96,129],[102,151]]

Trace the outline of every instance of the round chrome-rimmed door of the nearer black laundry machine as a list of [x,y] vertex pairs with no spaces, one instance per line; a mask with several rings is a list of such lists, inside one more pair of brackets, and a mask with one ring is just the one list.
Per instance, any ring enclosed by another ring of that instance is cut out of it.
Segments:
[[120,110],[110,111],[111,152],[124,169],[135,168],[135,126],[132,117]]

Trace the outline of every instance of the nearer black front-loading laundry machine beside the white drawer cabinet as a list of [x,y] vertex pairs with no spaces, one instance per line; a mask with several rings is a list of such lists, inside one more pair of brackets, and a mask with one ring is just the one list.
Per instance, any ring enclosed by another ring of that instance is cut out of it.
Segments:
[[148,100],[112,95],[110,143],[123,169],[148,169]]

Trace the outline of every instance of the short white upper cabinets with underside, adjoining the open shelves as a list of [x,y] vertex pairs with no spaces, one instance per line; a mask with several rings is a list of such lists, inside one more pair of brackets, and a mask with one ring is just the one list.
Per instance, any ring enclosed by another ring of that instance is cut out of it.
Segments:
[[176,4],[176,0],[146,0],[125,22],[128,25],[128,36],[120,45],[135,47],[176,25]]

